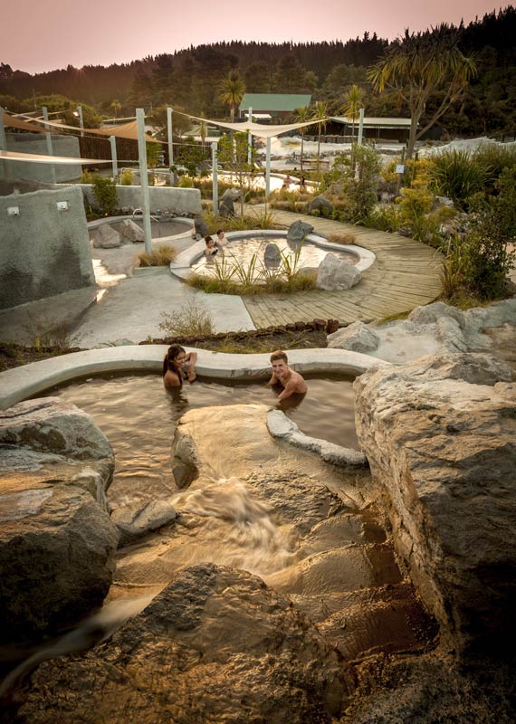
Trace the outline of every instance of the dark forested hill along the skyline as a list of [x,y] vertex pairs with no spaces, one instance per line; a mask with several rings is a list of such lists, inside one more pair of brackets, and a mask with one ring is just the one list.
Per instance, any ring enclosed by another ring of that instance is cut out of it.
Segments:
[[[402,32],[400,28],[400,33]],[[516,125],[516,10],[476,19],[463,28],[463,51],[475,53],[479,74],[460,108],[446,115],[444,128],[464,134],[514,128]],[[224,115],[218,85],[229,71],[238,71],[249,92],[311,92],[337,111],[351,83],[366,91],[369,115],[405,112],[395,97],[374,96],[366,68],[383,54],[387,40],[376,33],[346,43],[213,43],[162,53],[109,67],[89,65],[31,75],[0,64],[0,103],[27,110],[33,97],[59,93],[110,113],[119,101],[119,115],[134,108],[167,103],[190,113]]]

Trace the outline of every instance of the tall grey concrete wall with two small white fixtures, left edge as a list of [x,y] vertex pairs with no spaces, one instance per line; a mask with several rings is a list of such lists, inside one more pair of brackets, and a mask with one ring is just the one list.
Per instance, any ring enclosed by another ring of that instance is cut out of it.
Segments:
[[[58,210],[60,201],[68,210]],[[0,309],[94,283],[80,188],[0,196]]]

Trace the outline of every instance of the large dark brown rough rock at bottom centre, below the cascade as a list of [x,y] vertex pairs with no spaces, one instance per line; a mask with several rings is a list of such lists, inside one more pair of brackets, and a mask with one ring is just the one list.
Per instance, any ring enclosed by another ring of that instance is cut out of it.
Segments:
[[350,689],[348,668],[287,598],[245,571],[205,564],[90,653],[43,662],[19,716],[329,724]]

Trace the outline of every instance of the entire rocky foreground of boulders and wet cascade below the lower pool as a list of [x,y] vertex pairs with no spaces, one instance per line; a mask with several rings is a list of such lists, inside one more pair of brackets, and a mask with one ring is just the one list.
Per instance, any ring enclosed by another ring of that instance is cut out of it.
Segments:
[[25,622],[51,633],[109,585],[115,603],[154,598],[95,648],[17,681],[4,720],[514,721],[511,369],[442,350],[355,389],[370,472],[360,455],[338,467],[273,438],[263,405],[194,410],[172,452],[181,491],[110,516],[110,448],[87,416],[46,400],[8,411],[4,641]]

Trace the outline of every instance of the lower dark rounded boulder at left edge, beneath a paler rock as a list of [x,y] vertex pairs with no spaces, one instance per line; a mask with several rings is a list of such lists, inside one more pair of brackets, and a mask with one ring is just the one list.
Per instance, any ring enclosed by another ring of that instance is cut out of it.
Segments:
[[0,495],[0,641],[60,630],[100,605],[118,534],[90,493],[20,481]]

